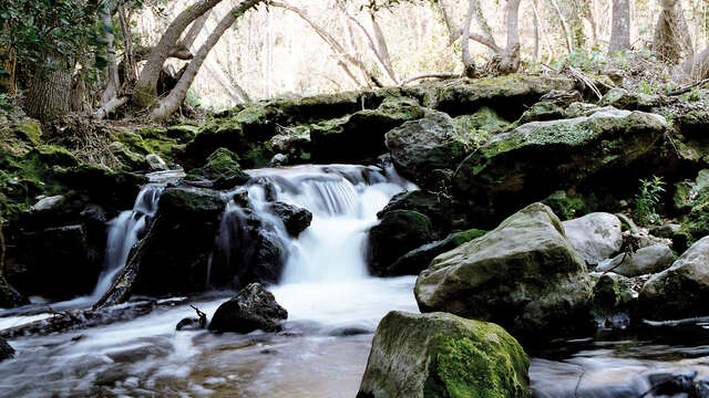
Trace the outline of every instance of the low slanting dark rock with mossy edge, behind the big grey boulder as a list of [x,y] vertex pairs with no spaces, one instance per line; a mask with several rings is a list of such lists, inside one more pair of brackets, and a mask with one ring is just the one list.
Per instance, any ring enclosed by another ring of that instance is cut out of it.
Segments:
[[462,232],[451,233],[445,239],[431,242],[417,248],[404,255],[400,256],[386,270],[381,271],[382,276],[395,275],[418,275],[421,271],[429,268],[431,261],[436,255],[451,251],[459,245],[473,239],[484,235],[487,231],[472,229]]

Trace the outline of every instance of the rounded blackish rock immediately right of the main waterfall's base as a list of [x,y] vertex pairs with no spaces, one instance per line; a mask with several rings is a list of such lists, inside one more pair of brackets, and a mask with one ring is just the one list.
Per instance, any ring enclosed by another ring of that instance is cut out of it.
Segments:
[[369,265],[377,275],[407,252],[433,240],[431,220],[411,210],[393,210],[369,231]]

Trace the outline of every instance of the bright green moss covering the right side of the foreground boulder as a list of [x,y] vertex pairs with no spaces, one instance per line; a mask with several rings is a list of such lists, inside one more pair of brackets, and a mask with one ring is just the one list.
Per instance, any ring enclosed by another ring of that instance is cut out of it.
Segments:
[[438,334],[431,349],[427,398],[531,397],[523,376],[530,359],[495,324],[476,323],[462,333]]

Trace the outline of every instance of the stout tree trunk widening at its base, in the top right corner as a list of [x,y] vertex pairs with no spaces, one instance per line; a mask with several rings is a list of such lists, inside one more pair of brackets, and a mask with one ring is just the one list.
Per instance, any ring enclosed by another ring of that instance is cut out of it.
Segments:
[[679,0],[662,0],[662,10],[655,27],[653,51],[667,63],[677,63],[682,54],[691,55],[693,46],[689,27]]

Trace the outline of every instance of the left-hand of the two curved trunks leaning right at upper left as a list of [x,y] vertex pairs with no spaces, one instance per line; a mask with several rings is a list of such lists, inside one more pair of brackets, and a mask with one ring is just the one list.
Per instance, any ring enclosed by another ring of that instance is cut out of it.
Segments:
[[222,0],[198,0],[195,4],[182,11],[167,27],[165,33],[160,39],[157,45],[153,48],[147,57],[147,63],[143,67],[135,92],[133,104],[137,107],[148,107],[157,97],[157,80],[163,70],[163,64],[169,54],[171,49],[177,43],[182,33],[187,27],[205,12],[212,10]]

